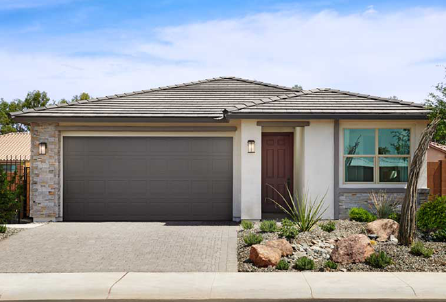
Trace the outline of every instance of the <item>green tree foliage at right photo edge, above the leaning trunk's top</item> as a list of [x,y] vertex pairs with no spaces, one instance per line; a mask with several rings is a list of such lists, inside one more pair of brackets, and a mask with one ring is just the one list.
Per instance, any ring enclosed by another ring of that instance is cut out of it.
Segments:
[[[445,68],[446,71],[446,68]],[[446,72],[445,72],[446,73]],[[446,75],[445,75],[446,78]],[[430,119],[441,117],[441,121],[437,126],[433,141],[446,144],[446,83],[440,82],[435,85],[435,91],[429,93],[429,97],[425,100],[425,105],[430,108]]]

